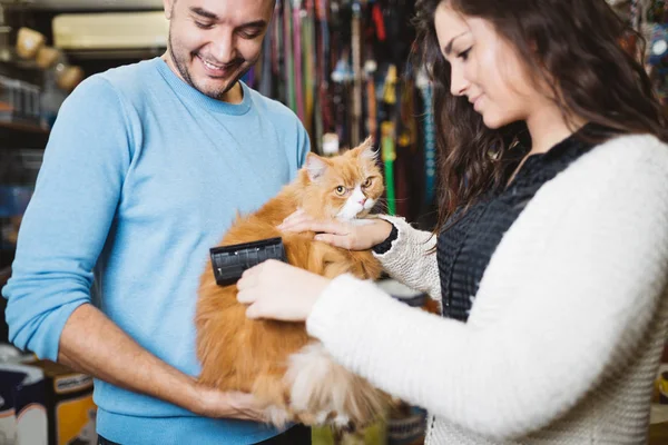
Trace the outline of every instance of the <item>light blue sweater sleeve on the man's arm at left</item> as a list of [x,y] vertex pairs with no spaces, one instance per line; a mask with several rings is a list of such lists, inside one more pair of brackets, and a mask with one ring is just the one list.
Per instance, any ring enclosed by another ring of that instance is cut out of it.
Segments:
[[57,359],[67,319],[90,301],[130,164],[127,116],[112,86],[94,76],[67,98],[52,128],[2,289],[10,340],[40,358]]

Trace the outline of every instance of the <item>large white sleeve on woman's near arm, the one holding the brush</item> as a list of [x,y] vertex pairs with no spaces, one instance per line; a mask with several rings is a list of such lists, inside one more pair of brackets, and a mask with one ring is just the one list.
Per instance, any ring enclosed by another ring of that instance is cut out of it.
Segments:
[[[520,217],[507,237],[539,235],[505,247],[497,287],[477,299],[469,324],[342,276],[314,306],[310,334],[380,388],[470,431],[508,439],[549,425],[619,370],[652,318],[666,316],[657,310],[668,276],[668,156],[622,148],[626,156],[599,159],[595,174],[580,169],[566,187],[539,190],[541,206],[524,210],[533,219]],[[538,260],[508,283],[503,270],[525,251]]]

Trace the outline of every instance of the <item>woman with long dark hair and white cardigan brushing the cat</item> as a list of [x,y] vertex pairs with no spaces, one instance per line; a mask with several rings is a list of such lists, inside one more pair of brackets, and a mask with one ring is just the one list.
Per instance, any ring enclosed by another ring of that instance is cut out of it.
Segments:
[[430,444],[644,443],[668,320],[668,136],[623,24],[603,0],[418,9],[436,236],[392,217],[283,229],[373,247],[444,317],[276,261],[244,275],[239,300],[306,320],[344,366],[428,408]]

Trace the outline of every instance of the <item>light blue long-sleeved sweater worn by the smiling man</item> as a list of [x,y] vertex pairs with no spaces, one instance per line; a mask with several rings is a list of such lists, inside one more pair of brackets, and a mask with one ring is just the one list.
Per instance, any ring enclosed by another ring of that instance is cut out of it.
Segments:
[[[208,249],[237,210],[257,209],[291,181],[308,151],[292,111],[243,88],[240,105],[210,99],[156,58],[92,76],[68,97],[3,289],[18,347],[56,359],[66,320],[92,300],[150,353],[198,375],[193,319]],[[99,434],[121,444],[276,434],[100,380],[95,402]]]

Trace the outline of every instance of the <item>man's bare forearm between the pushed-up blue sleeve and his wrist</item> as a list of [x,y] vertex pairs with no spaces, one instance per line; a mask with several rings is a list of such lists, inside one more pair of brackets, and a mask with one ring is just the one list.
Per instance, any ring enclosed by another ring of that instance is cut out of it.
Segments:
[[78,307],[67,320],[58,362],[116,386],[198,411],[195,379],[144,349],[92,305]]

